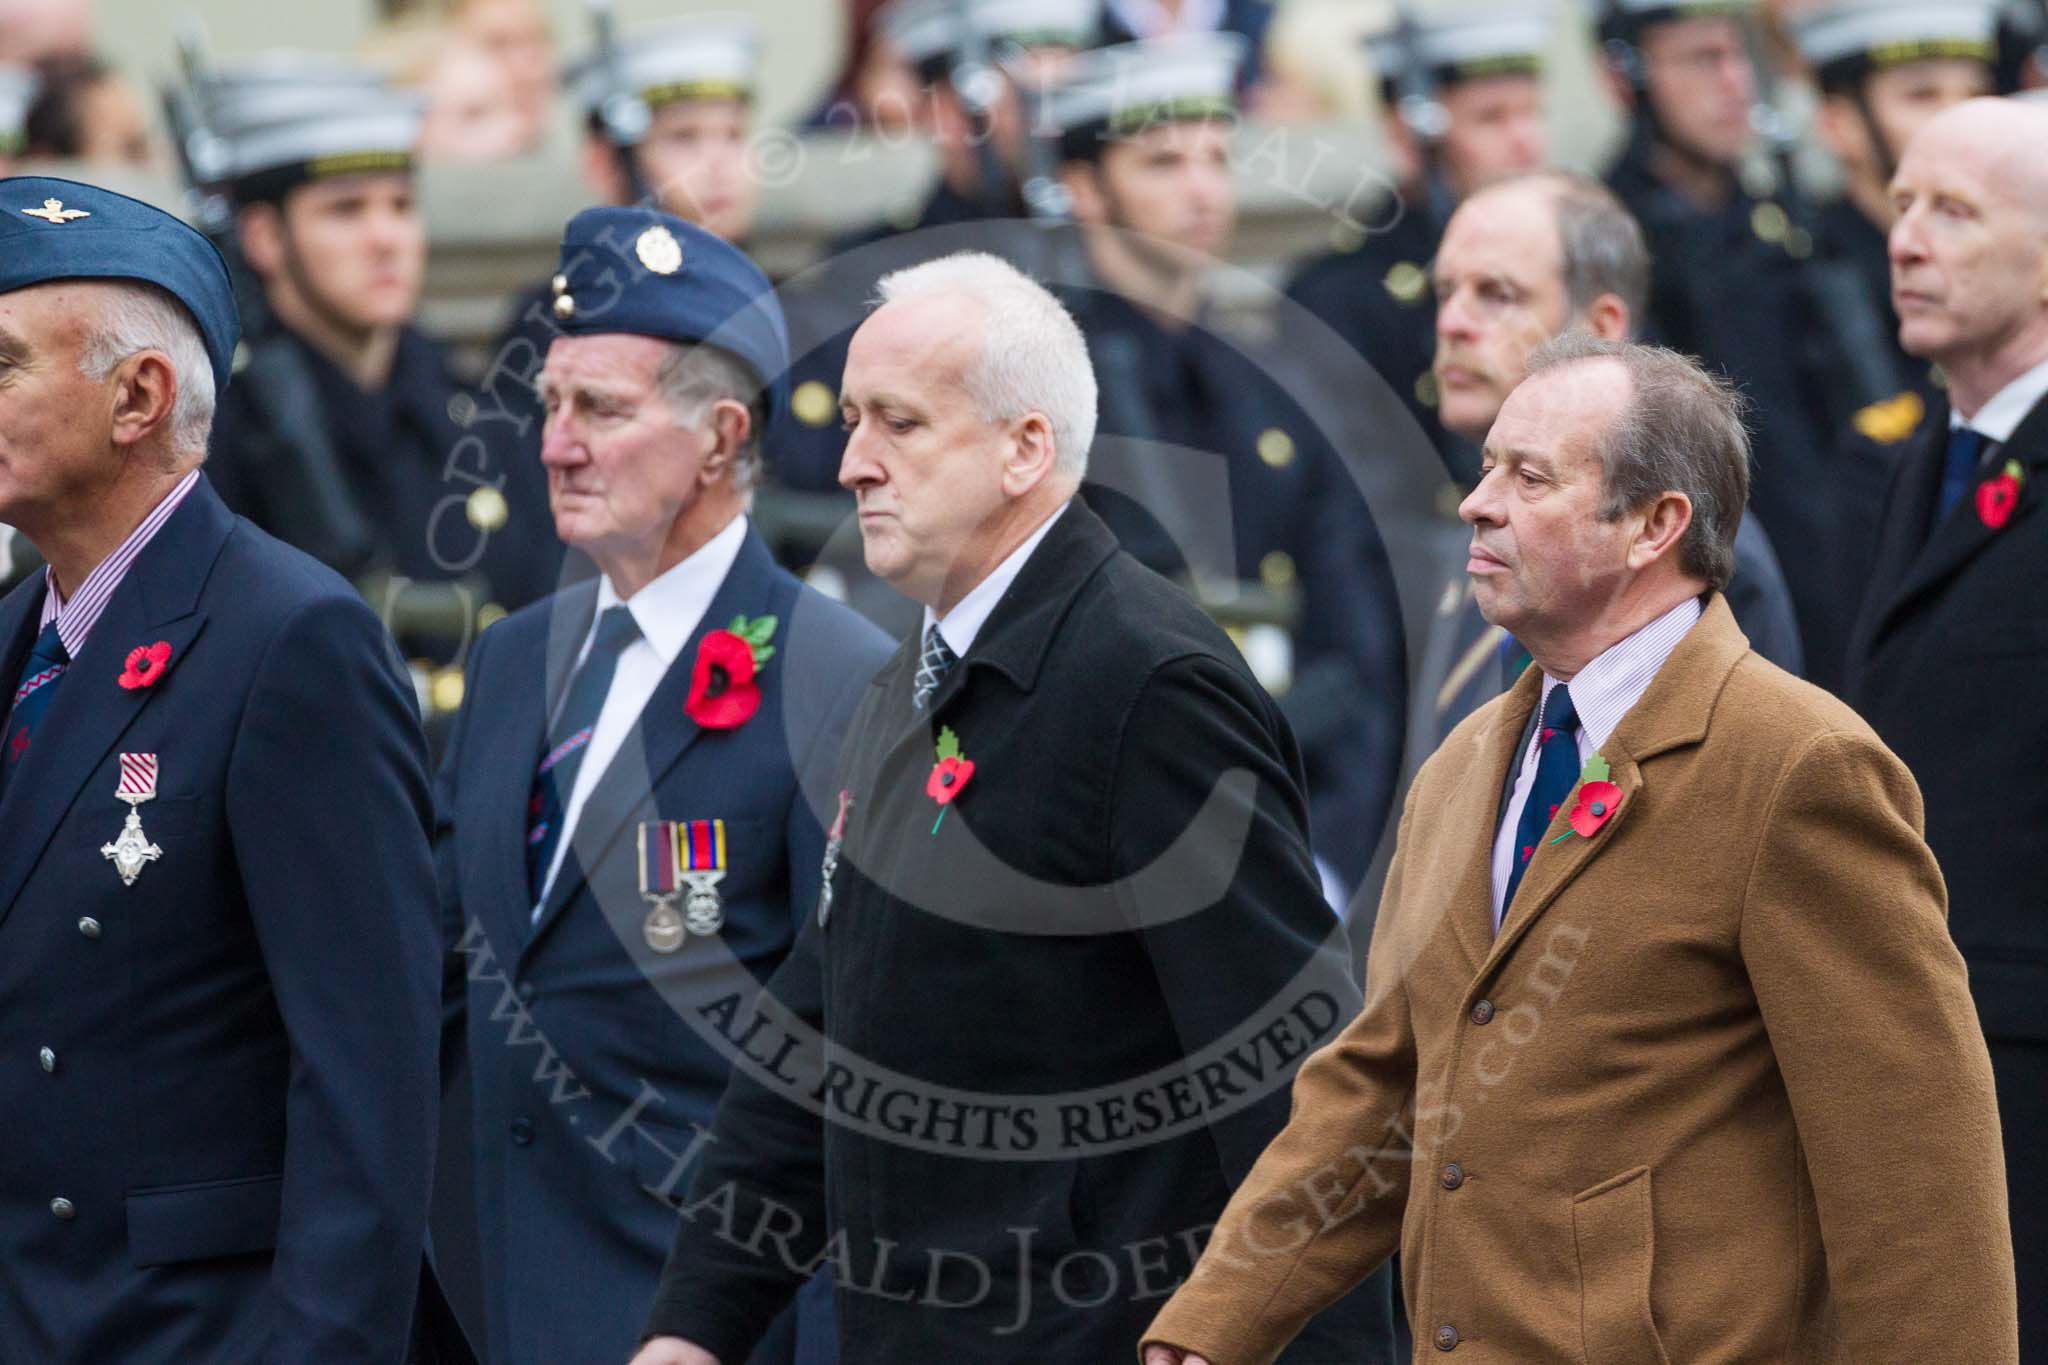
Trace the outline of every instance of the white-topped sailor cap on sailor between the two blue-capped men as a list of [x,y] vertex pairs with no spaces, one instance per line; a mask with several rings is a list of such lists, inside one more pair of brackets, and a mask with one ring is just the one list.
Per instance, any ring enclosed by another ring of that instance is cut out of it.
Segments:
[[315,53],[264,53],[205,92],[217,170],[244,203],[326,176],[410,172],[422,117],[418,94]]

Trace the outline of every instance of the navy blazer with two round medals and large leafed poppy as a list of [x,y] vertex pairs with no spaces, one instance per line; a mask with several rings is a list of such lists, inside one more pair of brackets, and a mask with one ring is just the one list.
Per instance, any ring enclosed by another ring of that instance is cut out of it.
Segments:
[[[535,923],[526,800],[545,714],[594,612],[590,579],[479,636],[436,790],[451,948],[444,1062],[467,1050],[494,1365],[633,1355],[676,1236],[678,1160],[694,1128],[711,1126],[731,1072],[713,1042],[719,1003],[752,1001],[817,902],[831,763],[891,651],[858,614],[780,569],[750,530],[584,804]],[[705,731],[684,708],[692,663],[705,634],[733,616],[774,616],[776,653],[758,677],[760,710]],[[725,821],[725,929],[690,935],[674,954],[641,933],[637,829],[655,819]]]

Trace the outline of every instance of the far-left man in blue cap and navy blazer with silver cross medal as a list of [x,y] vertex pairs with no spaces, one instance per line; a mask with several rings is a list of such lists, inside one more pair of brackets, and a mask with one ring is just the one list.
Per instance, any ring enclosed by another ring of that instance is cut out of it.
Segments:
[[393,1365],[434,1148],[418,708],[201,473],[236,348],[168,213],[0,180],[0,1357]]

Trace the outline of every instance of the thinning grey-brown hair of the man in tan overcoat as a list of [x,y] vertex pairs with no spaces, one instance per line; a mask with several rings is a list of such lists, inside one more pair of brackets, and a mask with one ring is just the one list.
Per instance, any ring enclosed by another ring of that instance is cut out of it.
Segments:
[[1628,401],[1599,442],[1606,501],[1614,522],[1665,493],[1692,501],[1692,526],[1677,563],[1710,587],[1735,575],[1735,530],[1749,503],[1747,401],[1698,360],[1663,346],[1604,342],[1573,329],[1530,356],[1530,379],[1581,360],[1614,360],[1628,372]]

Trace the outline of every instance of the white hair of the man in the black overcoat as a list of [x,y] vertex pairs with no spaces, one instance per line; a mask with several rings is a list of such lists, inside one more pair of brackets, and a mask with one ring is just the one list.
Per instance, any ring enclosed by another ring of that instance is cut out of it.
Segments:
[[885,274],[881,303],[920,295],[965,295],[981,309],[981,354],[967,366],[967,395],[983,422],[1044,413],[1057,469],[1087,475],[1096,442],[1096,368],[1087,340],[1059,299],[1010,262],[954,252]]

